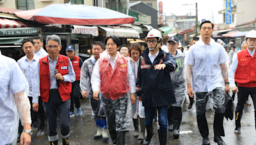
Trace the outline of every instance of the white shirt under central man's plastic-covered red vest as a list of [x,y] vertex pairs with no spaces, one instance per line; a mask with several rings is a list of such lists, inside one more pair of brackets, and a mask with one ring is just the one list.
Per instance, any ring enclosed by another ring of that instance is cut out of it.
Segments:
[[[111,62],[112,69],[114,69],[114,67],[115,67],[116,59],[118,58],[117,55],[120,55],[120,54],[119,53],[116,54],[114,62],[111,59],[111,57],[108,56],[109,61]],[[134,74],[132,72],[131,63],[129,61],[130,60],[128,60],[128,63],[127,63],[127,69],[128,69],[127,80],[129,82],[130,92],[135,93]],[[92,78],[91,78],[93,92],[95,92],[95,91],[99,92],[100,82],[101,82],[101,80],[100,80],[99,61],[97,61],[95,66],[94,66],[94,69],[93,69],[93,72],[92,72]]]

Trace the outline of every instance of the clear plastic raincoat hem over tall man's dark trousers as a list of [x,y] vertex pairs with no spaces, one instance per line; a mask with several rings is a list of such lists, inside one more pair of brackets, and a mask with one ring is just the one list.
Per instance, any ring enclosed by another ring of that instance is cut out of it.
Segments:
[[195,92],[195,97],[196,114],[202,115],[206,109],[225,113],[225,92],[222,87],[215,88],[211,92]]

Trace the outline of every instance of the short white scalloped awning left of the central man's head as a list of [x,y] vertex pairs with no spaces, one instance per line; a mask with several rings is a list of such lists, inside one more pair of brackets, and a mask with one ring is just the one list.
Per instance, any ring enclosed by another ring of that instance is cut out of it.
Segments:
[[74,34],[91,34],[92,36],[99,36],[99,30],[97,26],[82,26],[82,25],[73,25],[72,33]]

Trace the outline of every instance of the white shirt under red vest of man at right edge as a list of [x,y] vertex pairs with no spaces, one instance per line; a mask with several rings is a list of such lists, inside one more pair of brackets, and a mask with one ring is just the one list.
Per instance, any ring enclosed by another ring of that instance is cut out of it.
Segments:
[[[255,49],[251,52],[248,48],[246,48],[247,51],[249,52],[249,54],[251,55],[251,57],[253,57],[254,53],[255,53]],[[238,59],[237,59],[237,53],[236,55],[234,54],[234,57],[233,57],[233,64],[231,66],[231,69],[228,73],[228,81],[230,83],[230,88],[236,86],[236,83],[235,83],[235,74],[236,74],[236,69],[237,69],[237,66],[238,66]]]

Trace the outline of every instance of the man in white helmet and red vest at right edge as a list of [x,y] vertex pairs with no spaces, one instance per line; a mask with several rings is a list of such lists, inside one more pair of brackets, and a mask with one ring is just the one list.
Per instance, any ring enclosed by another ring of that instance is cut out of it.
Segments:
[[[253,104],[256,103],[256,31],[249,31],[245,36],[245,42],[247,49],[237,53],[229,72],[231,90],[233,93],[238,92],[235,134],[241,134],[241,117],[248,95],[251,95]],[[256,106],[254,109],[256,122]]]

